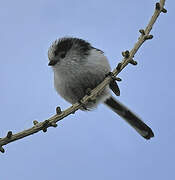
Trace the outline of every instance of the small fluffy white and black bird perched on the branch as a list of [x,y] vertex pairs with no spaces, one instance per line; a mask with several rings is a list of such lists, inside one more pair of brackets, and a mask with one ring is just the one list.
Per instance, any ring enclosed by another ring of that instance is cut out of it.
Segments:
[[[87,89],[97,87],[111,71],[102,50],[76,37],[56,39],[49,47],[48,60],[54,72],[57,93],[71,104],[80,102]],[[118,86],[117,94],[120,95]],[[152,129],[111,94],[110,85],[98,94],[96,101],[88,102],[81,110],[91,111],[100,103],[122,117],[143,138],[154,137]]]

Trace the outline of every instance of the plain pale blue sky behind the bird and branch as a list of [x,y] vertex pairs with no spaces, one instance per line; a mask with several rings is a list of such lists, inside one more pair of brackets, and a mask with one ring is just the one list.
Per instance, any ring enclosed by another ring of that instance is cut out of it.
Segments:
[[[53,87],[47,66],[51,42],[62,36],[88,40],[114,68],[133,47],[156,1],[16,0],[0,6],[0,137],[18,132],[70,105]],[[174,1],[167,1],[152,34],[119,77],[118,98],[152,127],[146,141],[105,106],[78,111],[57,128],[5,146],[2,180],[174,179]]]

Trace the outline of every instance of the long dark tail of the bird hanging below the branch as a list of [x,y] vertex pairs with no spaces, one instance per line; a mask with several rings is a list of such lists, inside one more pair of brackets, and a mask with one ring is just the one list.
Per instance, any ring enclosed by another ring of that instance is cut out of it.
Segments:
[[119,101],[110,97],[104,103],[119,116],[125,119],[142,137],[145,139],[154,137],[154,133],[151,128]]

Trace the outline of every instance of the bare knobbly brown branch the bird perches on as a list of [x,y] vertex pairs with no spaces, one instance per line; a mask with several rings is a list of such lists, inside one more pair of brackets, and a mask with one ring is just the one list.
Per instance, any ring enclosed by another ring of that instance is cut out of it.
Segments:
[[87,102],[89,101],[94,101],[96,96],[111,82],[111,80],[118,80],[120,81],[121,79],[116,77],[129,63],[132,65],[136,65],[137,62],[133,60],[134,55],[136,54],[136,52],[138,51],[138,49],[140,48],[140,46],[148,39],[152,39],[153,36],[150,35],[150,31],[154,25],[154,23],[156,22],[158,16],[160,15],[161,12],[166,13],[166,9],[164,9],[164,5],[165,5],[165,0],[160,0],[159,3],[156,3],[155,6],[155,11],[153,16],[151,17],[148,25],[146,26],[146,28],[143,30],[139,30],[139,32],[141,33],[140,37],[138,38],[138,41],[135,43],[133,49],[131,49],[130,51],[125,51],[122,53],[123,55],[123,60],[117,65],[116,69],[113,70],[113,72],[111,72],[112,75],[107,76],[104,81],[99,84],[95,89],[93,89],[90,93],[88,93],[88,95],[86,95],[81,102],[75,103],[74,105],[72,105],[71,107],[69,107],[68,109],[61,111],[60,107],[57,107],[56,109],[56,115],[50,117],[48,120],[45,120],[43,122],[38,123],[36,120],[33,121],[34,126],[24,130],[22,132],[16,133],[16,134],[12,134],[12,131],[9,131],[6,135],[6,137],[4,138],[0,138],[0,151],[2,153],[5,152],[4,148],[2,146],[16,141],[18,139],[22,139],[26,136],[32,135],[34,133],[37,133],[39,131],[43,131],[46,132],[48,127],[57,127],[57,122],[62,120],[63,118],[65,118],[66,116],[70,115],[70,114],[74,114],[78,109],[80,109],[80,107],[82,107],[83,105],[85,105]]

